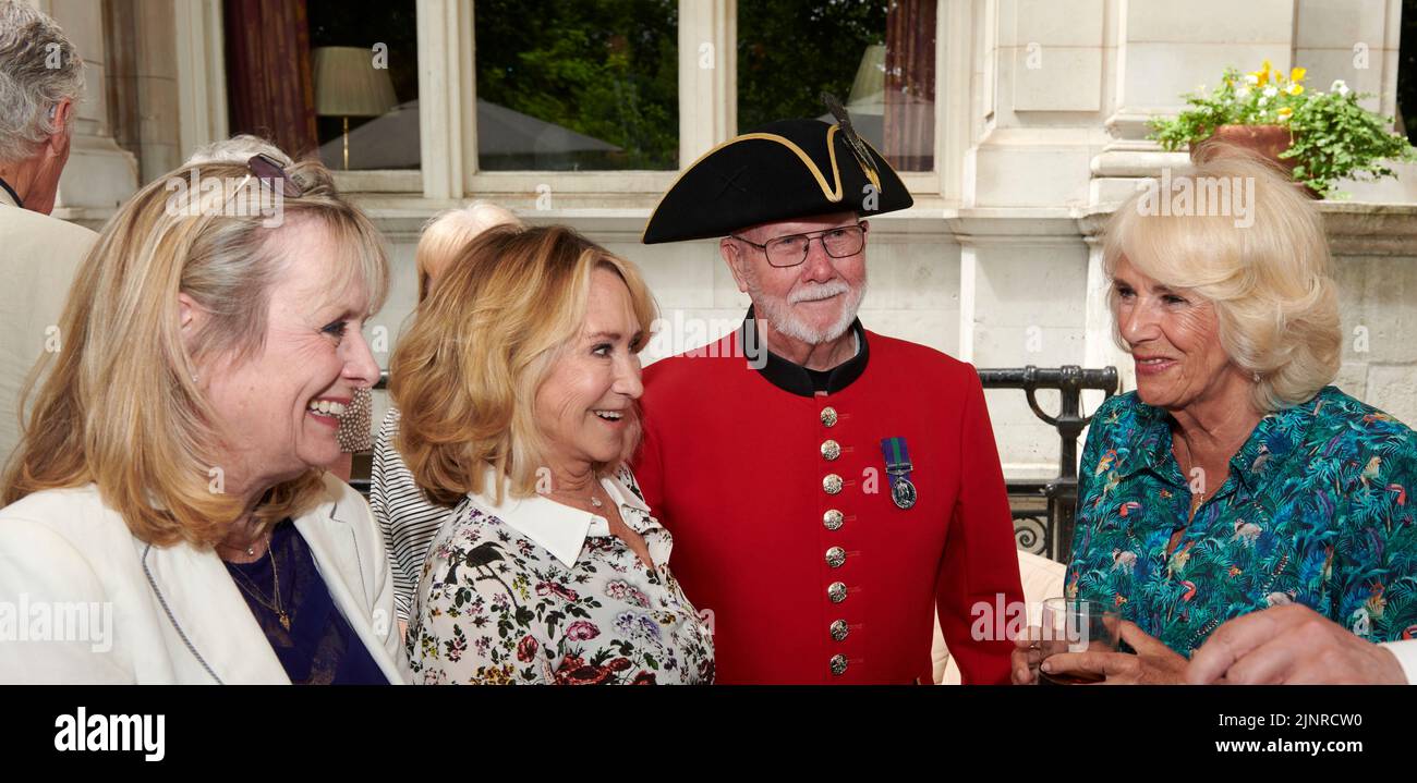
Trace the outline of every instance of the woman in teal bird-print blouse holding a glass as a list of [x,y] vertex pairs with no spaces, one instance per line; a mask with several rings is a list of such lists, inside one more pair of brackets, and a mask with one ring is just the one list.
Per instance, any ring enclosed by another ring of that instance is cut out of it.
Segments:
[[[1230,201],[1207,201],[1220,183]],[[1417,436],[1329,385],[1342,331],[1321,217],[1241,153],[1172,187],[1141,191],[1107,231],[1136,391],[1093,419],[1066,588],[1117,607],[1136,654],[1043,668],[1182,681],[1223,622],[1291,603],[1367,640],[1411,639]],[[1036,658],[1020,643],[1015,681]]]

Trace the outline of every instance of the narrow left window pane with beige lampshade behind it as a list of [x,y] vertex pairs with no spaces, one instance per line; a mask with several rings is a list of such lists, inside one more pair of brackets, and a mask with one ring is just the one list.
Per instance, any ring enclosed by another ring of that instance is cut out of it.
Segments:
[[330,168],[418,168],[414,0],[307,0],[307,13],[320,160]]

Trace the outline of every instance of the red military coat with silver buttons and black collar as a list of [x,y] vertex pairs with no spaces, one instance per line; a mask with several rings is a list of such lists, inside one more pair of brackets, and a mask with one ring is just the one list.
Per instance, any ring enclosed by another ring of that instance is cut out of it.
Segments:
[[[750,367],[743,330],[645,370],[635,477],[686,595],[713,612],[717,681],[930,682],[938,606],[964,681],[1007,682],[1012,644],[971,637],[979,605],[1022,602],[979,377],[853,328],[860,350],[829,392],[772,354]],[[914,466],[908,510],[886,438]]]

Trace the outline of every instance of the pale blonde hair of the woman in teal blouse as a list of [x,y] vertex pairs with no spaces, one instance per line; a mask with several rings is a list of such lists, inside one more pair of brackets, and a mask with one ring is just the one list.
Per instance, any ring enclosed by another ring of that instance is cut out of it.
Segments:
[[[1186,214],[1156,210],[1158,191],[1161,200],[1173,197],[1165,188],[1139,191],[1112,214],[1104,270],[1111,279],[1127,258],[1159,283],[1213,303],[1230,361],[1258,375],[1251,392],[1255,409],[1298,405],[1333,381],[1340,360],[1338,292],[1322,215],[1274,166],[1234,147],[1210,147],[1206,154],[1172,180],[1173,190],[1182,177],[1195,185]],[[1246,215],[1229,205],[1213,208],[1221,184],[1231,204],[1247,207]],[[1196,208],[1204,205],[1207,190],[1212,208]],[[1253,224],[1246,225],[1248,219]],[[1114,289],[1114,327],[1117,306]],[[1119,328],[1114,338],[1128,350]]]

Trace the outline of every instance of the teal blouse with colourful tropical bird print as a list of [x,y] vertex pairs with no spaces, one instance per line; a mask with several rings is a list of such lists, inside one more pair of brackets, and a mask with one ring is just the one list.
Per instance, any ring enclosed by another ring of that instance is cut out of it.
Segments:
[[[1190,654],[1220,623],[1301,603],[1370,641],[1417,636],[1417,435],[1335,387],[1270,413],[1196,510],[1170,416],[1136,392],[1093,419],[1067,595]],[[1185,534],[1168,555],[1178,528]]]

